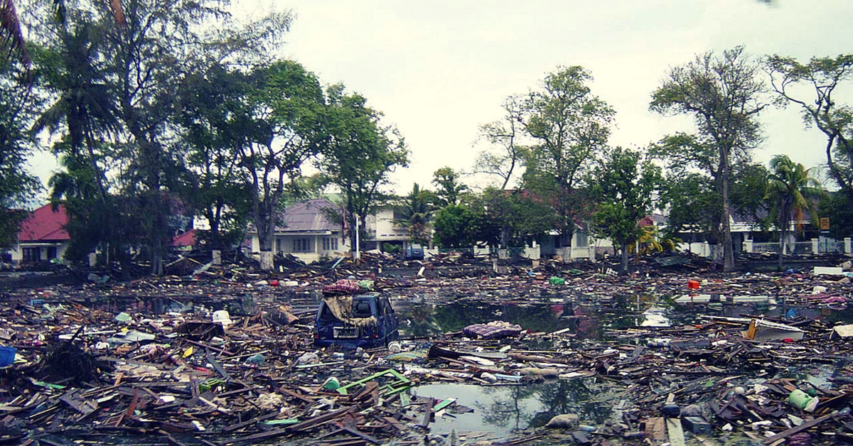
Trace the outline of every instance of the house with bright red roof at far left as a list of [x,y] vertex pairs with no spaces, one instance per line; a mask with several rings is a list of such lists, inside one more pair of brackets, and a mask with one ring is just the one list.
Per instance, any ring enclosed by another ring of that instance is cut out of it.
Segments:
[[9,250],[14,264],[38,264],[62,258],[71,241],[65,229],[68,216],[64,206],[44,205],[30,212],[20,225],[18,241]]

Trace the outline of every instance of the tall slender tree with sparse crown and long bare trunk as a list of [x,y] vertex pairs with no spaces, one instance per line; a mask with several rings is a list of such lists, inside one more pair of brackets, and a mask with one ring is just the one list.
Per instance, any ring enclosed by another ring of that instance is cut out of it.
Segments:
[[719,226],[726,271],[734,269],[728,197],[732,159],[738,152],[748,153],[760,141],[757,115],[766,107],[757,70],[743,47],[728,49],[722,56],[711,52],[697,55],[688,64],[670,69],[650,104],[659,113],[692,116],[696,134],[690,136],[691,144],[705,155],[713,153],[716,166],[712,175],[722,197]]

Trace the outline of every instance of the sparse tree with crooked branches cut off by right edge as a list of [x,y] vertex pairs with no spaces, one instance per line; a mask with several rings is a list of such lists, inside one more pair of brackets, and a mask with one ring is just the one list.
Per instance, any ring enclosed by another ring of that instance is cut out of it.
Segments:
[[[838,96],[844,97],[839,87],[853,79],[853,55],[813,57],[807,64],[772,55],[764,66],[780,100],[800,107],[805,124],[827,137],[829,175],[853,202],[853,107],[838,102]],[[798,89],[800,85],[811,93]]]

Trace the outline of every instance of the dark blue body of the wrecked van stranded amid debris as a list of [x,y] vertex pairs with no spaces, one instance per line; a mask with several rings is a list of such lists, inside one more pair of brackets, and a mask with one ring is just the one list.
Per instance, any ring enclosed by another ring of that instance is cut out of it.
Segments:
[[341,321],[323,299],[314,321],[314,345],[373,348],[387,345],[399,337],[397,313],[388,298],[380,293],[352,296],[350,316],[359,322]]

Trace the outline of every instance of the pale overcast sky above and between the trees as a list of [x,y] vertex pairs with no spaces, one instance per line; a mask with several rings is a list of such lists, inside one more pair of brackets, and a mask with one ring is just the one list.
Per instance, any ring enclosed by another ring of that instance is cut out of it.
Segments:
[[[343,82],[397,125],[411,165],[395,176],[405,194],[444,165],[470,171],[479,125],[502,101],[535,88],[559,66],[580,65],[595,95],[617,111],[612,145],[645,147],[690,121],[650,113],[669,67],[743,44],[751,55],[803,61],[853,52],[850,0],[235,0],[236,14],[292,9],[282,54]],[[766,142],[755,159],[786,153],[823,161],[824,140],[794,108],[763,113]],[[44,174],[44,167],[37,170]]]

